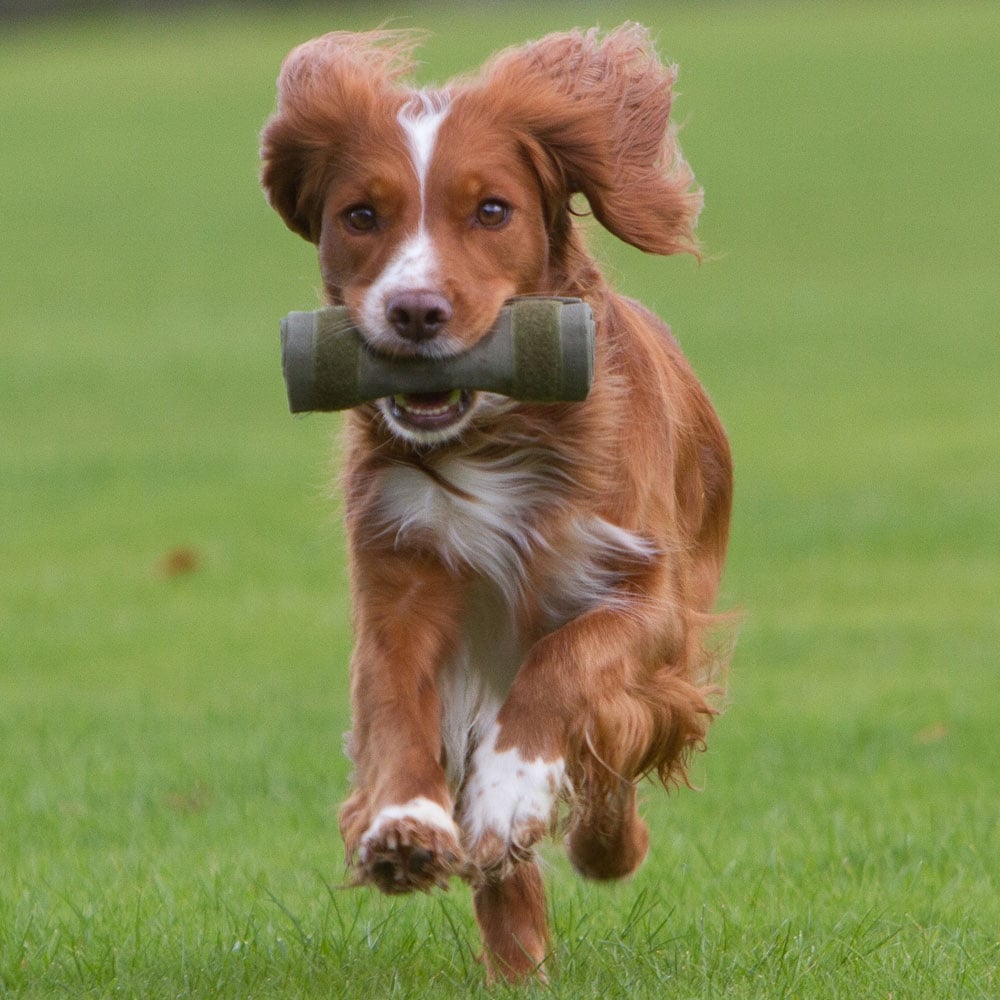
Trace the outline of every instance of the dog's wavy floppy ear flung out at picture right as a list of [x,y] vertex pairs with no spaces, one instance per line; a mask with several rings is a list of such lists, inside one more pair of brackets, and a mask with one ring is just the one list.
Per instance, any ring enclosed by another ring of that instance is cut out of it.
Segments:
[[[673,67],[645,28],[549,35],[500,53],[484,87],[531,140],[543,188],[582,192],[598,221],[650,253],[698,252],[702,193],[670,126]],[[557,196],[559,196],[557,195]]]

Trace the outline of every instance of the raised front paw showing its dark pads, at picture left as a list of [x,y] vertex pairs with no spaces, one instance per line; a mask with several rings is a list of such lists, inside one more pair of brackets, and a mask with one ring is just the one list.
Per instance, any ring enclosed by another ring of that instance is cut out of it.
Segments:
[[460,861],[454,820],[436,802],[416,798],[375,817],[358,846],[354,881],[390,895],[446,889]]

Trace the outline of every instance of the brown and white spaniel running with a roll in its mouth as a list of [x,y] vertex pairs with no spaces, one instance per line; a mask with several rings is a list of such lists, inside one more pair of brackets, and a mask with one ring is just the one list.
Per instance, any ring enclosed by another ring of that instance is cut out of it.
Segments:
[[296,48],[262,179],[375,351],[463,351],[515,295],[596,318],[586,402],[403,395],[349,417],[349,863],[389,893],[466,878],[490,974],[517,978],[548,950],[534,848],[560,804],[575,868],[629,875],[636,782],[683,781],[703,743],[731,461],[669,330],[574,223],[582,193],[627,243],[697,252],[674,72],[646,31],[551,35],[434,90],[405,82],[417,40]]

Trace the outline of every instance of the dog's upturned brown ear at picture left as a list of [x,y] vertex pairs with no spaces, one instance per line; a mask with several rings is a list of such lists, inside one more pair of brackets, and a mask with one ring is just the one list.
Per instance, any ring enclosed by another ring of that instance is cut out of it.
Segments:
[[278,76],[278,106],[261,134],[261,185],[293,232],[318,243],[323,199],[339,158],[395,113],[394,85],[422,35],[334,31],[293,49]]

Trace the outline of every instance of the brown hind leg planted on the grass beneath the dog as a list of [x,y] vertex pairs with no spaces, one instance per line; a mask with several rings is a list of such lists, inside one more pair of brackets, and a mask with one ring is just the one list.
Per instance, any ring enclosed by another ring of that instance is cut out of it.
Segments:
[[538,865],[522,861],[504,877],[487,876],[474,896],[489,979],[546,979],[549,948],[545,889]]

